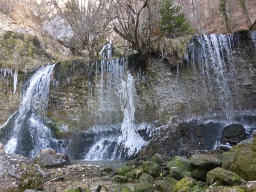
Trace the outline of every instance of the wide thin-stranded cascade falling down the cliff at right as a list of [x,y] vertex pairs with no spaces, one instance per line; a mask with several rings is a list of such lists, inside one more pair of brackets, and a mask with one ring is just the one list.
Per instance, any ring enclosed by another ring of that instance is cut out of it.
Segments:
[[218,95],[218,106],[226,118],[232,118],[232,95],[229,88],[229,78],[234,76],[231,64],[234,49],[233,35],[200,35],[192,40],[188,47],[190,62],[199,69],[205,88],[211,98]]

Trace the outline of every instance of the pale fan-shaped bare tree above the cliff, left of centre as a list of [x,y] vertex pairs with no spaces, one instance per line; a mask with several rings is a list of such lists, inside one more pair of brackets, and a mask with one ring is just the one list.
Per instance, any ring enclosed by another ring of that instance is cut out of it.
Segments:
[[110,19],[106,18],[109,10],[108,0],[81,1],[67,0],[61,7],[53,1],[61,18],[68,22],[77,39],[77,47],[87,49],[90,57],[94,58],[94,51],[109,33]]

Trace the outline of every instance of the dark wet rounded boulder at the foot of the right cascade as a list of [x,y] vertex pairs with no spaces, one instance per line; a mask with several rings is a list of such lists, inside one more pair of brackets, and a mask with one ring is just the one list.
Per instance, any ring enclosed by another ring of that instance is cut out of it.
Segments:
[[229,126],[224,127],[221,132],[222,143],[237,144],[245,139],[247,139],[247,134],[245,128],[241,124],[230,124]]

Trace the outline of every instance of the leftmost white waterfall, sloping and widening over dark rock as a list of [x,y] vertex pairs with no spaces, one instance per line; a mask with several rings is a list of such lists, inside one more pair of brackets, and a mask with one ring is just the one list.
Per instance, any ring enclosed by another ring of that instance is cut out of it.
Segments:
[[23,97],[14,120],[7,123],[13,128],[5,145],[7,153],[21,153],[34,157],[41,149],[57,149],[61,141],[52,139],[51,130],[44,124],[48,106],[51,74],[55,64],[42,66],[24,84]]

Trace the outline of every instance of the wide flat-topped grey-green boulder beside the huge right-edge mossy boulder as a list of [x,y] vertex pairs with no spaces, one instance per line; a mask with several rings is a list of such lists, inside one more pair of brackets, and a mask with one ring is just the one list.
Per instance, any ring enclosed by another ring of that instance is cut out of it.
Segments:
[[221,154],[194,154],[189,157],[192,165],[199,169],[211,170],[221,167],[223,156]]

